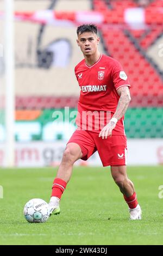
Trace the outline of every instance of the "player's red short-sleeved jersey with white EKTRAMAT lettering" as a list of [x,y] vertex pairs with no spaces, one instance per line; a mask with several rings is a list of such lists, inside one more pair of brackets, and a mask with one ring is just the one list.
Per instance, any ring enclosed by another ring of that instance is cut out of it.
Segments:
[[[87,66],[83,59],[75,67],[75,74],[81,89],[77,126],[82,130],[99,132],[109,122],[106,113],[110,113],[111,118],[116,111],[120,99],[117,89],[123,86],[130,87],[128,77],[117,60],[103,54],[92,66]],[[87,119],[91,113],[94,113],[92,115],[93,125],[89,128]],[[101,117],[99,122],[102,123],[102,126],[96,125],[97,116]],[[112,131],[112,135],[114,134],[124,135],[123,118],[117,122]]]

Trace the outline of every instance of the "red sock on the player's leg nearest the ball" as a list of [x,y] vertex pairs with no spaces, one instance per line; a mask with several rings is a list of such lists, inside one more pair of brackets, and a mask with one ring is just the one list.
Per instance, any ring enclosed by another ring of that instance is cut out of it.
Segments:
[[66,185],[67,185],[66,181],[59,178],[55,178],[53,181],[51,197],[58,197],[60,199],[62,196],[62,193],[64,193],[65,191]]

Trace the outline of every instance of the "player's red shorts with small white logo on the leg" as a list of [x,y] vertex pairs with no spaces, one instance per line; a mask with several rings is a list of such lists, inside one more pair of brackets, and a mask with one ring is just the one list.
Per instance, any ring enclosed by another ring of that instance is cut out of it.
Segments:
[[[112,135],[107,139],[98,137],[99,133],[76,130],[68,143],[77,143],[82,150],[82,160],[87,160],[98,151],[103,166],[127,164],[127,139],[124,135]],[[67,144],[68,144],[67,143]]]

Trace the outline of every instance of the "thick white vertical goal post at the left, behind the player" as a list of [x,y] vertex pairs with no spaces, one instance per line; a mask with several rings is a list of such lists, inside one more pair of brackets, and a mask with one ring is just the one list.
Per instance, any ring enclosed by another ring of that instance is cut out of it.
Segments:
[[5,166],[14,166],[14,0],[5,0],[4,15],[4,62],[5,62]]

